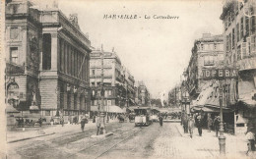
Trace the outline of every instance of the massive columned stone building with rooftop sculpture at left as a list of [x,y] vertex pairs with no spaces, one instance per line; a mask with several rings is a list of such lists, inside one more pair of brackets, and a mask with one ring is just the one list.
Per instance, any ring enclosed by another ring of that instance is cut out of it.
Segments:
[[28,116],[90,111],[91,41],[56,7],[6,4],[6,100]]

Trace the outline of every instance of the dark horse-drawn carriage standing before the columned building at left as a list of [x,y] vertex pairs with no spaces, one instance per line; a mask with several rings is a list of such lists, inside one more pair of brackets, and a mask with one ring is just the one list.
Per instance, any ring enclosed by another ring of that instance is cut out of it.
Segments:
[[17,122],[17,127],[34,127],[39,126],[41,127],[42,122],[46,122],[45,118],[29,118],[29,117],[15,117]]

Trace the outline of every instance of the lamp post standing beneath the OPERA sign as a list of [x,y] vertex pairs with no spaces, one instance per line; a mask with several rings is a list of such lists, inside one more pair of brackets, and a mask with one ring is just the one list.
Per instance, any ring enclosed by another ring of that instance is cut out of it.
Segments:
[[224,136],[224,112],[223,112],[223,81],[219,80],[220,83],[220,117],[221,117],[221,123],[220,123],[220,136],[219,136],[219,144],[220,144],[220,154],[225,154],[225,136]]

